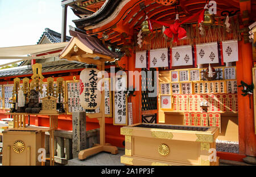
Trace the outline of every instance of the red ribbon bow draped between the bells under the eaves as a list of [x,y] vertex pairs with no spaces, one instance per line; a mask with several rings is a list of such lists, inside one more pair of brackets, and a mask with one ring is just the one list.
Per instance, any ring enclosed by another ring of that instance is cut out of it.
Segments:
[[152,28],[152,24],[151,22],[155,22],[158,24],[161,24],[163,26],[168,26],[169,28],[167,28],[164,31],[164,34],[168,37],[172,37],[174,36],[174,42],[176,43],[177,40],[181,40],[184,39],[185,37],[187,37],[187,31],[185,31],[184,28],[180,27],[181,24],[188,22],[189,20],[191,20],[192,18],[194,18],[195,16],[199,15],[199,20],[198,23],[204,22],[204,12],[205,9],[197,12],[196,14],[192,15],[191,17],[189,17],[188,19],[184,20],[183,22],[180,23],[180,20],[175,20],[174,24],[168,24],[168,23],[164,23],[164,22],[159,22],[157,20],[153,20],[153,19],[148,19],[148,27],[150,28],[150,31],[153,31]]

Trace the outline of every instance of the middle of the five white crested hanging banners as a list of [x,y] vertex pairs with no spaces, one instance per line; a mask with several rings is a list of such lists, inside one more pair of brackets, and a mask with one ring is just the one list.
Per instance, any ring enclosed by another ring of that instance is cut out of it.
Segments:
[[172,66],[193,65],[192,46],[183,45],[172,48]]

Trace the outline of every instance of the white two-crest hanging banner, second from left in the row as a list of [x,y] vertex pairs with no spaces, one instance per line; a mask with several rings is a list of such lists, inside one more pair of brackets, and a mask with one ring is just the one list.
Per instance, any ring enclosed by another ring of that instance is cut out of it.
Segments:
[[150,50],[150,68],[168,67],[168,49]]

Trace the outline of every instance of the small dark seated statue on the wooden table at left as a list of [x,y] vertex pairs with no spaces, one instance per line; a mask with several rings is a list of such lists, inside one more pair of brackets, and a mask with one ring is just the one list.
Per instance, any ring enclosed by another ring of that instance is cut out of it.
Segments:
[[32,89],[30,91],[30,98],[28,101],[28,107],[26,108],[26,113],[39,113],[40,110],[38,92]]

